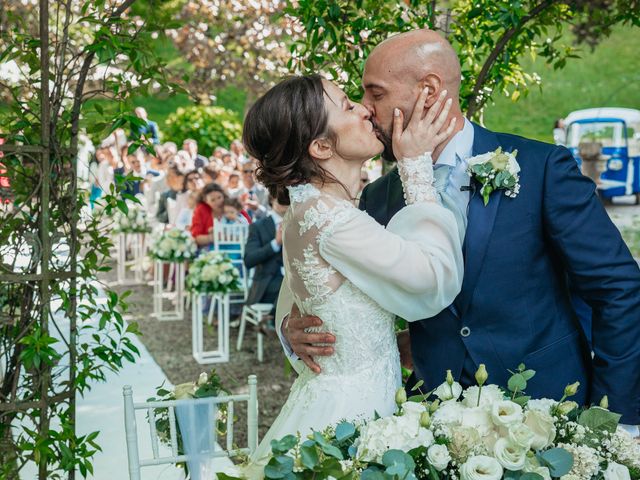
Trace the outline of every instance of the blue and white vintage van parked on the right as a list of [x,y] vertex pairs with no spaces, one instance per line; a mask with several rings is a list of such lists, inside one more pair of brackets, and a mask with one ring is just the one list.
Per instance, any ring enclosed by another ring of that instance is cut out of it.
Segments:
[[[588,108],[565,118],[567,147],[586,174],[581,148],[591,144],[600,149],[601,167],[596,178],[604,200],[635,195],[640,203],[640,110],[631,108]],[[592,175],[589,175],[593,177]]]

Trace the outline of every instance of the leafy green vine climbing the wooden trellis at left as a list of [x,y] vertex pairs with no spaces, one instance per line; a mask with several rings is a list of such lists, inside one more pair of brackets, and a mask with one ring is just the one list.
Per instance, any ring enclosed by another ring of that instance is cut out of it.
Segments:
[[[42,480],[73,471],[88,476],[98,432],[76,434],[72,399],[139,352],[131,340],[137,326],[123,318],[127,293],[102,290],[96,282],[98,273],[110,270],[113,214],[127,208],[118,182],[90,215],[80,215],[88,197],[75,175],[80,116],[98,138],[135,129],[140,120],[128,103],[132,96],[149,95],[158,85],[175,91],[154,43],[175,22],[162,9],[136,17],[128,10],[133,2],[48,2],[44,81],[38,4],[8,3],[0,15],[0,62],[16,62],[22,76],[0,91],[10,100],[2,137],[18,148],[2,157],[13,202],[0,211],[0,477],[17,478],[29,462]],[[94,78],[96,67],[115,69]],[[40,85],[49,87],[45,109]],[[96,103],[83,109],[96,96],[108,98],[108,108]],[[20,257],[25,265],[16,263]]]

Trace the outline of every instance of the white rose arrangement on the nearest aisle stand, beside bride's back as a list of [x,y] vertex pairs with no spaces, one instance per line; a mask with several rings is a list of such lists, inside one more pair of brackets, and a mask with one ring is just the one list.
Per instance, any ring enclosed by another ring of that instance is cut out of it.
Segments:
[[206,252],[189,266],[187,288],[196,293],[229,293],[240,289],[240,272],[220,252]]

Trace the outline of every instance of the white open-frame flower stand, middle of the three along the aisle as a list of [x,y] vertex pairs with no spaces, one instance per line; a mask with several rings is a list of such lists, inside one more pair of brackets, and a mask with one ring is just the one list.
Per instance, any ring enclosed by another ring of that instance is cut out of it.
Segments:
[[[169,274],[164,281],[165,265]],[[153,316],[158,320],[184,319],[184,262],[165,262],[155,260],[153,266]],[[169,302],[167,308],[166,303]]]

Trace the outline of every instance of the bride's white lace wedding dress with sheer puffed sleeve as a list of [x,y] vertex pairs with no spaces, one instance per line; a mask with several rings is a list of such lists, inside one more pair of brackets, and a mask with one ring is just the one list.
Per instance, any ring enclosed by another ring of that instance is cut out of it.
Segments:
[[299,377],[252,456],[247,478],[262,478],[273,439],[393,414],[401,386],[395,316],[435,315],[460,291],[464,229],[460,215],[442,205],[431,156],[398,166],[407,206],[387,228],[311,184],[289,189],[279,303],[288,312],[291,294],[303,314],[320,317],[321,330],[336,336],[335,353],[315,358],[320,374],[296,368]]

